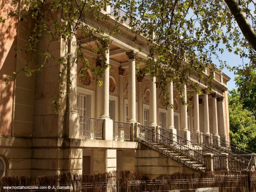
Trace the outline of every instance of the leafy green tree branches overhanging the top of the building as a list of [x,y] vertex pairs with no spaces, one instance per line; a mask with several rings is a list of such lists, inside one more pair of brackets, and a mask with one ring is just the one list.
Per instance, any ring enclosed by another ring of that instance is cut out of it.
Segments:
[[[232,2],[236,3],[235,7]],[[14,0],[13,3],[18,4],[19,1]],[[11,17],[18,17],[20,22],[32,18],[34,25],[28,43],[24,47],[17,47],[16,50],[36,51],[42,57],[42,62],[32,65],[35,61],[31,59],[4,80],[8,81],[20,72],[30,76],[33,72],[42,70],[49,58],[54,58],[49,50],[41,50],[38,47],[40,38],[45,36],[51,39],[50,43],[62,38],[66,44],[75,36],[79,45],[76,50],[77,61],[82,62],[85,69],[91,68],[92,63],[81,51],[81,39],[76,36],[78,30],[83,38],[91,37],[98,45],[94,51],[101,53],[103,59],[101,66],[96,67],[93,72],[96,76],[102,76],[104,69],[108,67],[104,50],[109,45],[109,36],[119,32],[118,22],[129,19],[132,32],[148,39],[149,54],[143,61],[145,68],[138,70],[138,76],[145,72],[156,76],[164,96],[167,97],[165,88],[170,81],[176,82],[177,88],[185,83],[199,91],[197,84],[192,82],[189,76],[194,74],[201,80],[202,71],[212,64],[213,58],[218,59],[221,68],[228,67],[218,55],[224,51],[223,44],[229,52],[234,52],[241,58],[248,58],[249,62],[238,64],[236,70],[242,70],[244,67],[255,68],[255,42],[253,43],[253,39],[247,35],[250,32],[255,33],[255,5],[254,0],[24,0],[16,12],[9,13],[6,18],[0,18],[0,22],[5,22]],[[111,13],[100,14],[105,6],[113,7]],[[120,16],[120,9],[124,9],[127,14]],[[106,20],[110,19],[110,15],[114,16],[116,25],[107,33],[101,28],[88,25],[87,18],[90,16]],[[246,35],[242,35],[238,26]],[[100,42],[95,34],[104,36],[104,43]],[[136,43],[136,38],[134,42]],[[66,70],[69,56],[66,52],[66,56],[59,60],[64,66],[63,71]],[[212,78],[213,70],[209,82]],[[60,96],[61,94],[56,98]]]

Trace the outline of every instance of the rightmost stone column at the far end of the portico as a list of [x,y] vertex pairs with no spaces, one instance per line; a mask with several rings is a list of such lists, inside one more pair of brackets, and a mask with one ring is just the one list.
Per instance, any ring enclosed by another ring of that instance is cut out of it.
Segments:
[[225,124],[225,113],[224,113],[224,97],[218,97],[218,109],[219,109],[219,133],[221,138],[227,140],[226,135],[226,124]]

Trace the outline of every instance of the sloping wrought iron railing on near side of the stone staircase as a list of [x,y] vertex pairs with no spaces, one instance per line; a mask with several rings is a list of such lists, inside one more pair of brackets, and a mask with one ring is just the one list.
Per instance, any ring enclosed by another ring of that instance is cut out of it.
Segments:
[[205,170],[204,154],[138,125],[138,141],[194,170]]

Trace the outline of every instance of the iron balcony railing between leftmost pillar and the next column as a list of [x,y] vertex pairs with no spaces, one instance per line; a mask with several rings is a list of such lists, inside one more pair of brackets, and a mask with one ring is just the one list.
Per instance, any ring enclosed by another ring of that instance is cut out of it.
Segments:
[[79,117],[79,135],[84,138],[102,139],[103,119]]

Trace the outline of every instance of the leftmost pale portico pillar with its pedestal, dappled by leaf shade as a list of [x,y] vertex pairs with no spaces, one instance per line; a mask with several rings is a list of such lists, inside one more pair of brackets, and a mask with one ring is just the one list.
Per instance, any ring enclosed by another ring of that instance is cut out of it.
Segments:
[[67,107],[66,107],[66,129],[65,134],[68,138],[79,138],[79,114],[76,108],[76,37],[72,36],[68,43],[70,58],[67,68],[67,81],[72,86],[67,86]]

